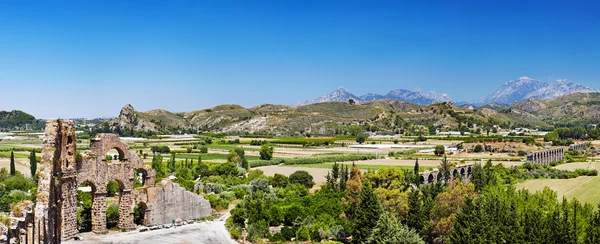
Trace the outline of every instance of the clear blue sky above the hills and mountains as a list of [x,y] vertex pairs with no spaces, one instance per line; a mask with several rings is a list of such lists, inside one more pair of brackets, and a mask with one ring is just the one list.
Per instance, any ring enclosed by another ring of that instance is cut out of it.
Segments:
[[594,1],[0,1],[0,109],[36,117],[293,104],[343,86],[474,100],[600,87]]

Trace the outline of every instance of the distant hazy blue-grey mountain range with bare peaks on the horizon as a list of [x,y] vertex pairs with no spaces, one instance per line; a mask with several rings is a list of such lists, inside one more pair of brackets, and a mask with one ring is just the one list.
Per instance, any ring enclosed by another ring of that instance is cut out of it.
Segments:
[[388,92],[385,95],[367,93],[362,96],[357,96],[350,93],[348,89],[340,87],[329,95],[298,102],[295,104],[295,106],[323,102],[348,102],[350,99],[353,99],[356,103],[366,103],[376,100],[399,100],[422,105],[428,105],[437,102],[456,102],[457,104],[473,104],[476,106],[484,106],[486,104],[509,105],[515,102],[525,101],[530,98],[549,100],[573,93],[591,92],[600,92],[600,90],[569,82],[567,80],[545,82],[523,76],[516,80],[504,83],[489,96],[470,102],[456,102],[450,95],[446,93],[423,91],[419,88],[416,88],[413,91],[396,89]]

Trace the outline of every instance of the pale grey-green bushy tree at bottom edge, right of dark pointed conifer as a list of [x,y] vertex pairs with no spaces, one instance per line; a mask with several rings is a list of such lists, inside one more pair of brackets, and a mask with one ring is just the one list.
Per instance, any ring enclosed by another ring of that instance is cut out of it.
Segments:
[[387,244],[387,243],[405,243],[405,244],[425,244],[419,234],[408,226],[384,212],[377,225],[371,231],[371,235],[365,244]]

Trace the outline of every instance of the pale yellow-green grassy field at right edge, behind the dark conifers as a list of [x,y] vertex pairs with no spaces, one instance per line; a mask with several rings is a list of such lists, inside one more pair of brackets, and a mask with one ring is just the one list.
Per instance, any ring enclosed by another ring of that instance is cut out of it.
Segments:
[[[559,165],[557,168],[563,170],[578,168],[600,170],[600,163],[568,163]],[[600,204],[599,186],[600,176],[580,176],[574,179],[537,179],[516,184],[517,189],[523,188],[533,192],[549,187],[556,191],[559,198],[563,196],[568,199],[575,198],[580,202],[590,203],[593,206]]]

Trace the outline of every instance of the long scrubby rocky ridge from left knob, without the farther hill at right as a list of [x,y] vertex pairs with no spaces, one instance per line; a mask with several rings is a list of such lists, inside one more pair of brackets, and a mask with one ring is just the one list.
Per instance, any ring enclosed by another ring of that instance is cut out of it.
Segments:
[[376,100],[362,104],[316,103],[298,107],[263,104],[253,108],[227,104],[191,112],[165,110],[136,111],[131,105],[109,122],[113,130],[153,132],[205,131],[211,133],[268,133],[280,135],[336,135],[355,125],[376,126],[392,132],[410,124],[454,129],[459,124],[485,124],[548,127],[528,113],[517,110],[469,109],[449,102],[420,105],[398,100]]

